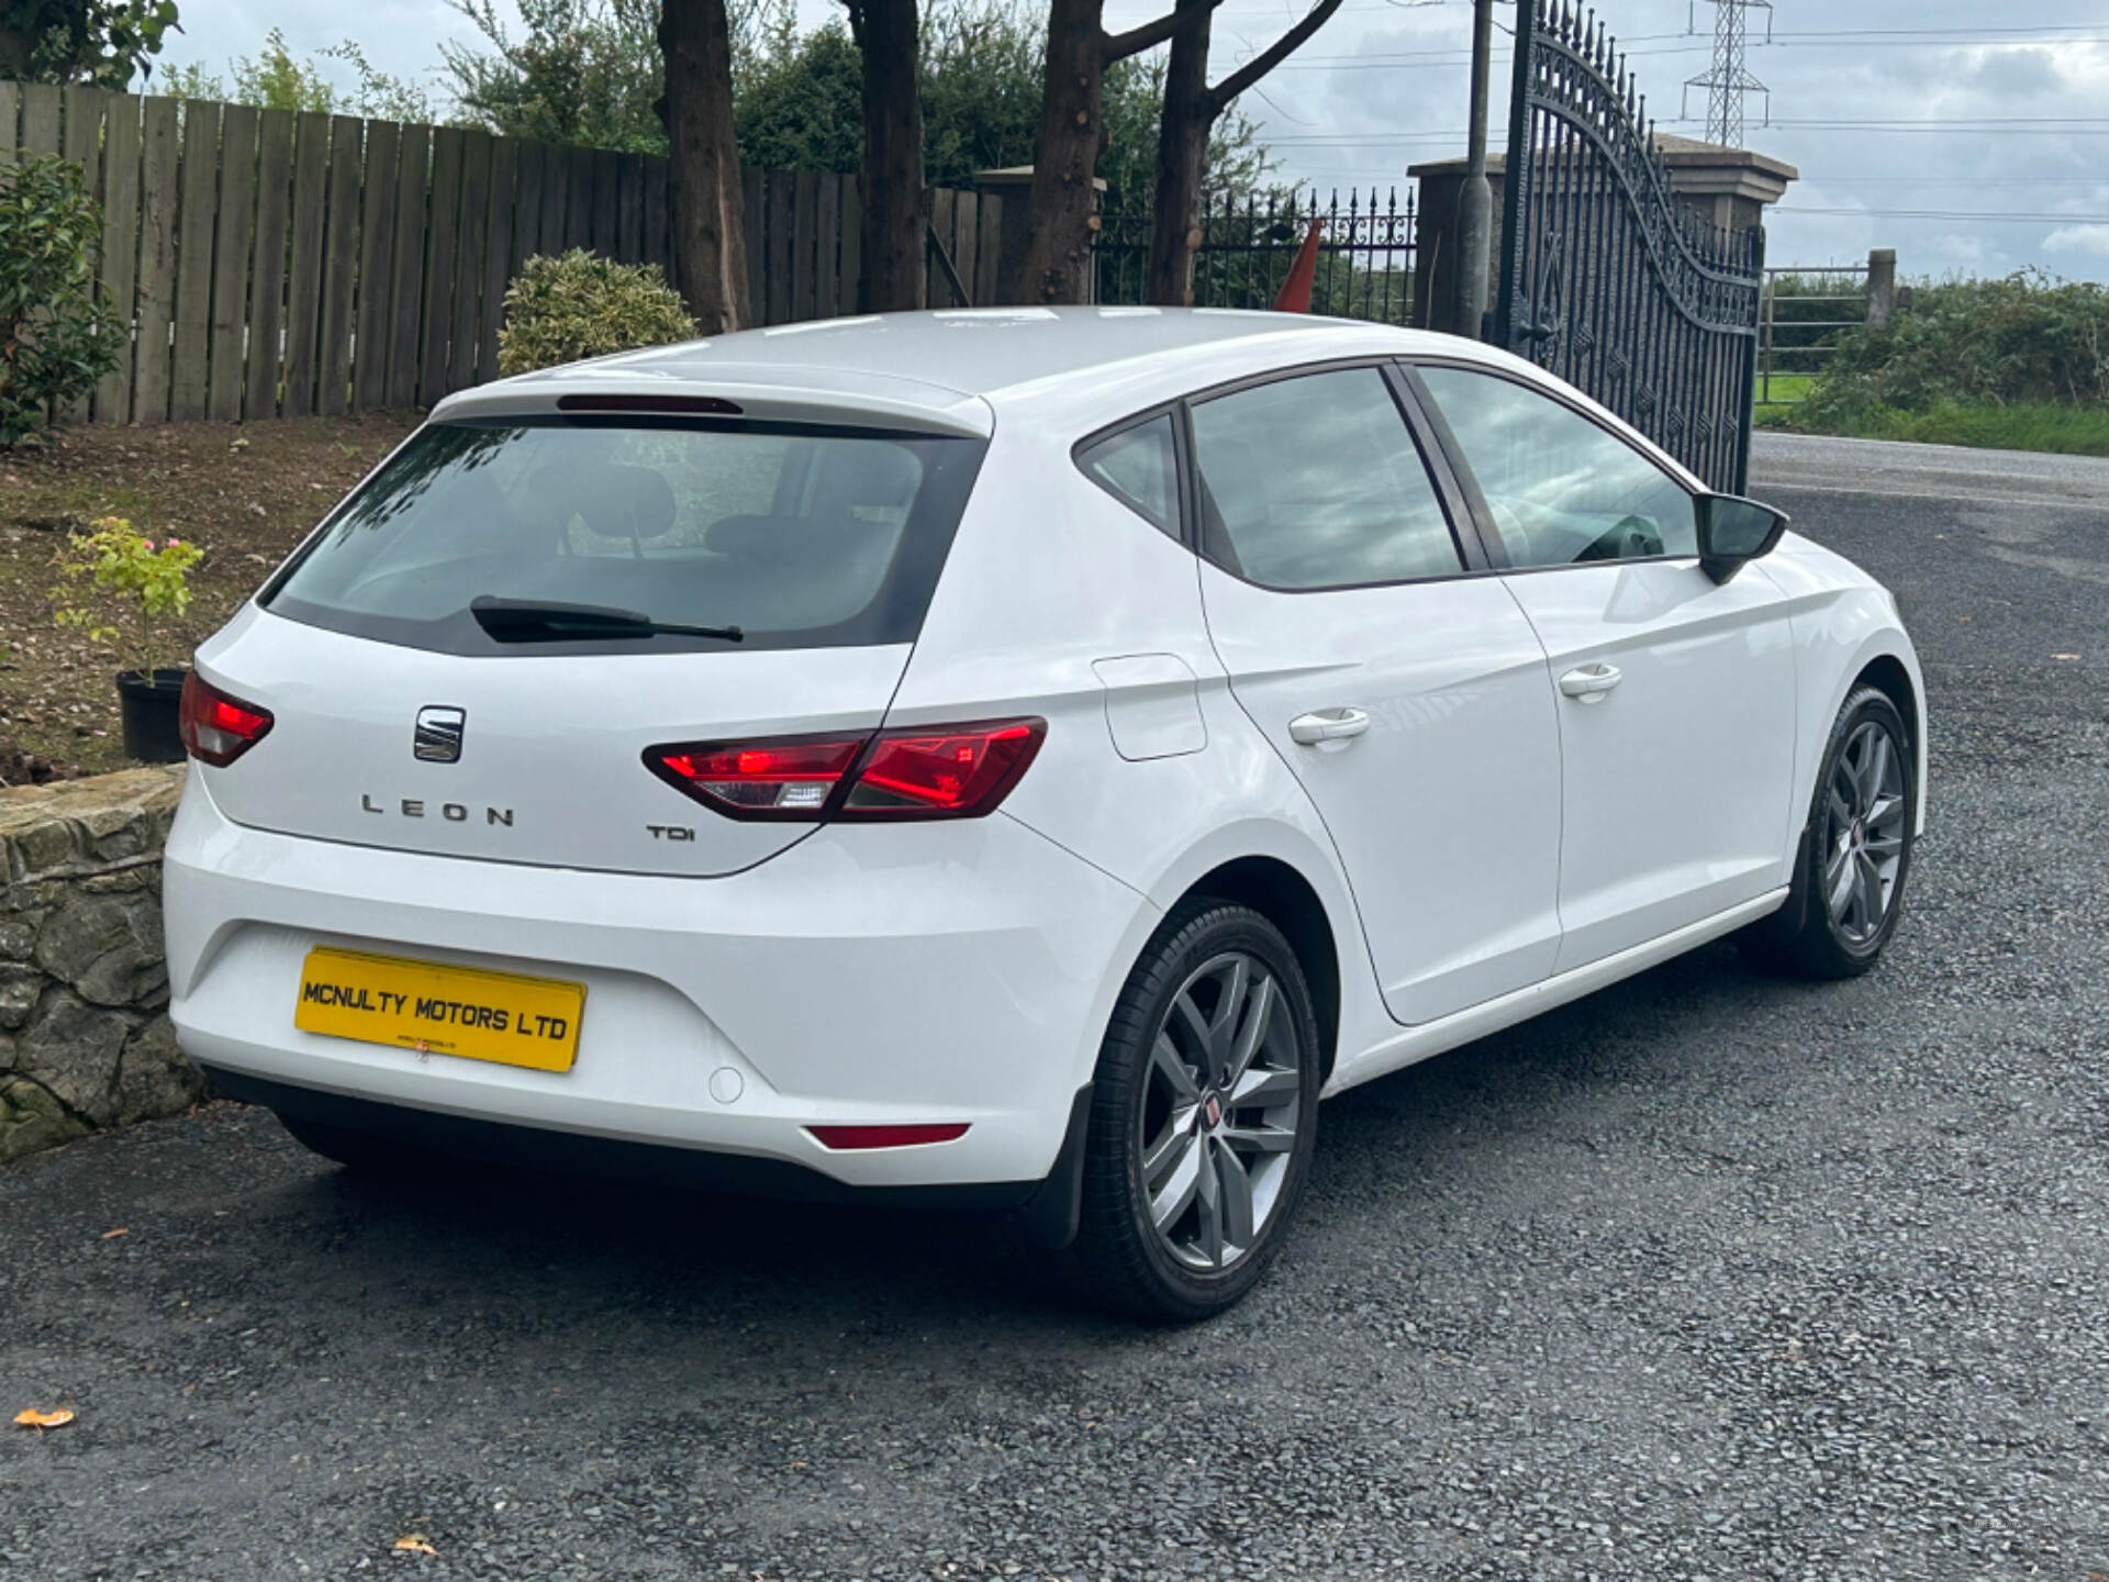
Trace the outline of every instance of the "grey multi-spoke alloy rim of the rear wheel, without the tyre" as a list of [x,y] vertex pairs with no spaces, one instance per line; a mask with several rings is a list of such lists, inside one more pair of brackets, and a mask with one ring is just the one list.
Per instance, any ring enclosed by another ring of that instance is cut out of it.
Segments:
[[1225,1270],[1282,1200],[1303,1105],[1303,1048],[1274,975],[1225,951],[1173,996],[1137,1120],[1143,1194],[1164,1249]]

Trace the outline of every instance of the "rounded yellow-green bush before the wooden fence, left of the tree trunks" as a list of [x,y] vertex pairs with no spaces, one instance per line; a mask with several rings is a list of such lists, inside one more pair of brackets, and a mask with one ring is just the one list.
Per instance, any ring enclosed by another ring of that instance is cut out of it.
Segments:
[[614,264],[574,247],[563,257],[529,257],[521,266],[506,291],[498,371],[527,373],[694,335],[696,321],[658,264]]

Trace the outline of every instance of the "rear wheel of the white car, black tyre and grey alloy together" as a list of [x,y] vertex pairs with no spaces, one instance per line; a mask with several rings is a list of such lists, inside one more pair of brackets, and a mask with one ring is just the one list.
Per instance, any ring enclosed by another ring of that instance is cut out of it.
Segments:
[[1318,1141],[1310,985],[1251,907],[1175,909],[1128,975],[1092,1080],[1076,1255],[1097,1297],[1192,1323],[1265,1274]]

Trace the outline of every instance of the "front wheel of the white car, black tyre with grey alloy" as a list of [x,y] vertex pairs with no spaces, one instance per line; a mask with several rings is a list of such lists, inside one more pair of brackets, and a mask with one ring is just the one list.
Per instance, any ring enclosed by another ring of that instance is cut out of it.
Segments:
[[1917,768],[1890,696],[1854,690],[1824,745],[1786,905],[1744,934],[1757,960],[1807,979],[1860,977],[1881,960],[1911,877]]

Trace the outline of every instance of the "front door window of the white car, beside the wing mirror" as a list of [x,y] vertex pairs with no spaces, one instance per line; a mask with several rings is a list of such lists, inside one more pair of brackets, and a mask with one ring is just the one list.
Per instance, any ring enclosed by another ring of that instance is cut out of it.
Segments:
[[1495,373],[1424,367],[1518,567],[1698,555],[1691,491],[1573,407]]

